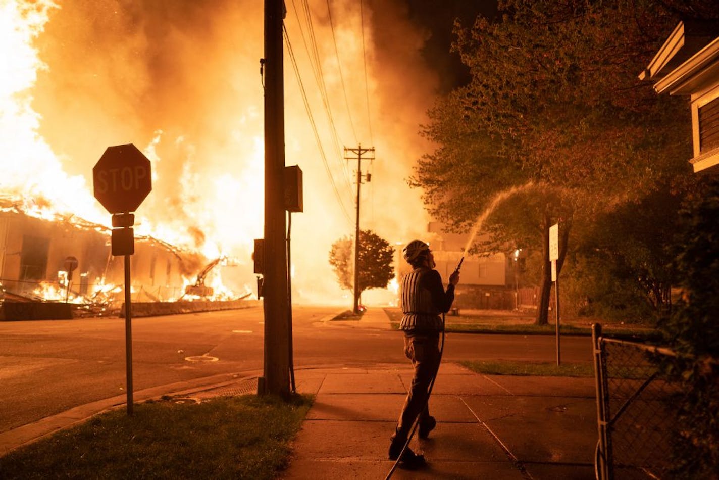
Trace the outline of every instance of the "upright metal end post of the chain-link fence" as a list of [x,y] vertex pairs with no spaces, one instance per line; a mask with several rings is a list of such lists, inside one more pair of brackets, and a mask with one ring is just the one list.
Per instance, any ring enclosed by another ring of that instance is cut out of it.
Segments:
[[595,457],[595,475],[597,480],[613,480],[612,446],[608,432],[609,389],[607,384],[607,364],[602,350],[600,337],[602,325],[592,324],[592,346],[594,353],[595,389],[597,391],[597,453]]

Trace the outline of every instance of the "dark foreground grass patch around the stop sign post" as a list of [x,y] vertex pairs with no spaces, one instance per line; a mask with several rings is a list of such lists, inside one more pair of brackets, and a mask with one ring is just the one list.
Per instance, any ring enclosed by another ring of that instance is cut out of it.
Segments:
[[217,397],[116,410],[0,458],[2,479],[273,479],[312,397]]

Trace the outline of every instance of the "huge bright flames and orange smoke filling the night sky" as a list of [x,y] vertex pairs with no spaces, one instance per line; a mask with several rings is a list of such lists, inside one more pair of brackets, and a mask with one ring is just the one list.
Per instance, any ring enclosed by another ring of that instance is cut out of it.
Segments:
[[[356,164],[341,148],[376,148],[377,160],[362,165],[372,172],[362,228],[392,243],[421,235],[419,192],[405,178],[426,147],[416,132],[436,78],[421,63],[421,32],[391,2],[370,2],[365,17],[357,2],[331,2],[332,23],[327,2],[297,3],[288,2],[285,23],[324,155],[285,58],[286,163],[304,174],[305,212],[292,219],[293,300],[344,304],[327,262],[331,244],[354,232]],[[109,225],[91,170],[109,145],[132,142],[153,171],[137,234],[207,258],[231,255],[234,283],[252,285],[264,215],[261,3],[0,0],[0,9],[0,195],[37,216]],[[331,123],[305,50],[312,41]],[[357,74],[365,62],[366,78]]]

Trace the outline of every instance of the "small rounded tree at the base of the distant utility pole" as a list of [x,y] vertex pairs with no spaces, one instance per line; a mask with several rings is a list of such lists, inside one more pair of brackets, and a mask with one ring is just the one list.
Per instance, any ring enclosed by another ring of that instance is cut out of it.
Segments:
[[[329,264],[343,289],[354,289],[354,257],[352,237],[342,237],[332,244]],[[393,266],[395,249],[372,230],[359,232],[359,294],[367,289],[384,289],[395,276]]]

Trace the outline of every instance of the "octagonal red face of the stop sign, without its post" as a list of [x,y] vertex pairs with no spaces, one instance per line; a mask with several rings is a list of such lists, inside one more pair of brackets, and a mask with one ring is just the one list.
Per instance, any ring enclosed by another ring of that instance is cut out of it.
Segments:
[[134,212],[152,190],[150,160],[132,143],[108,147],[92,178],[95,198],[111,214]]

